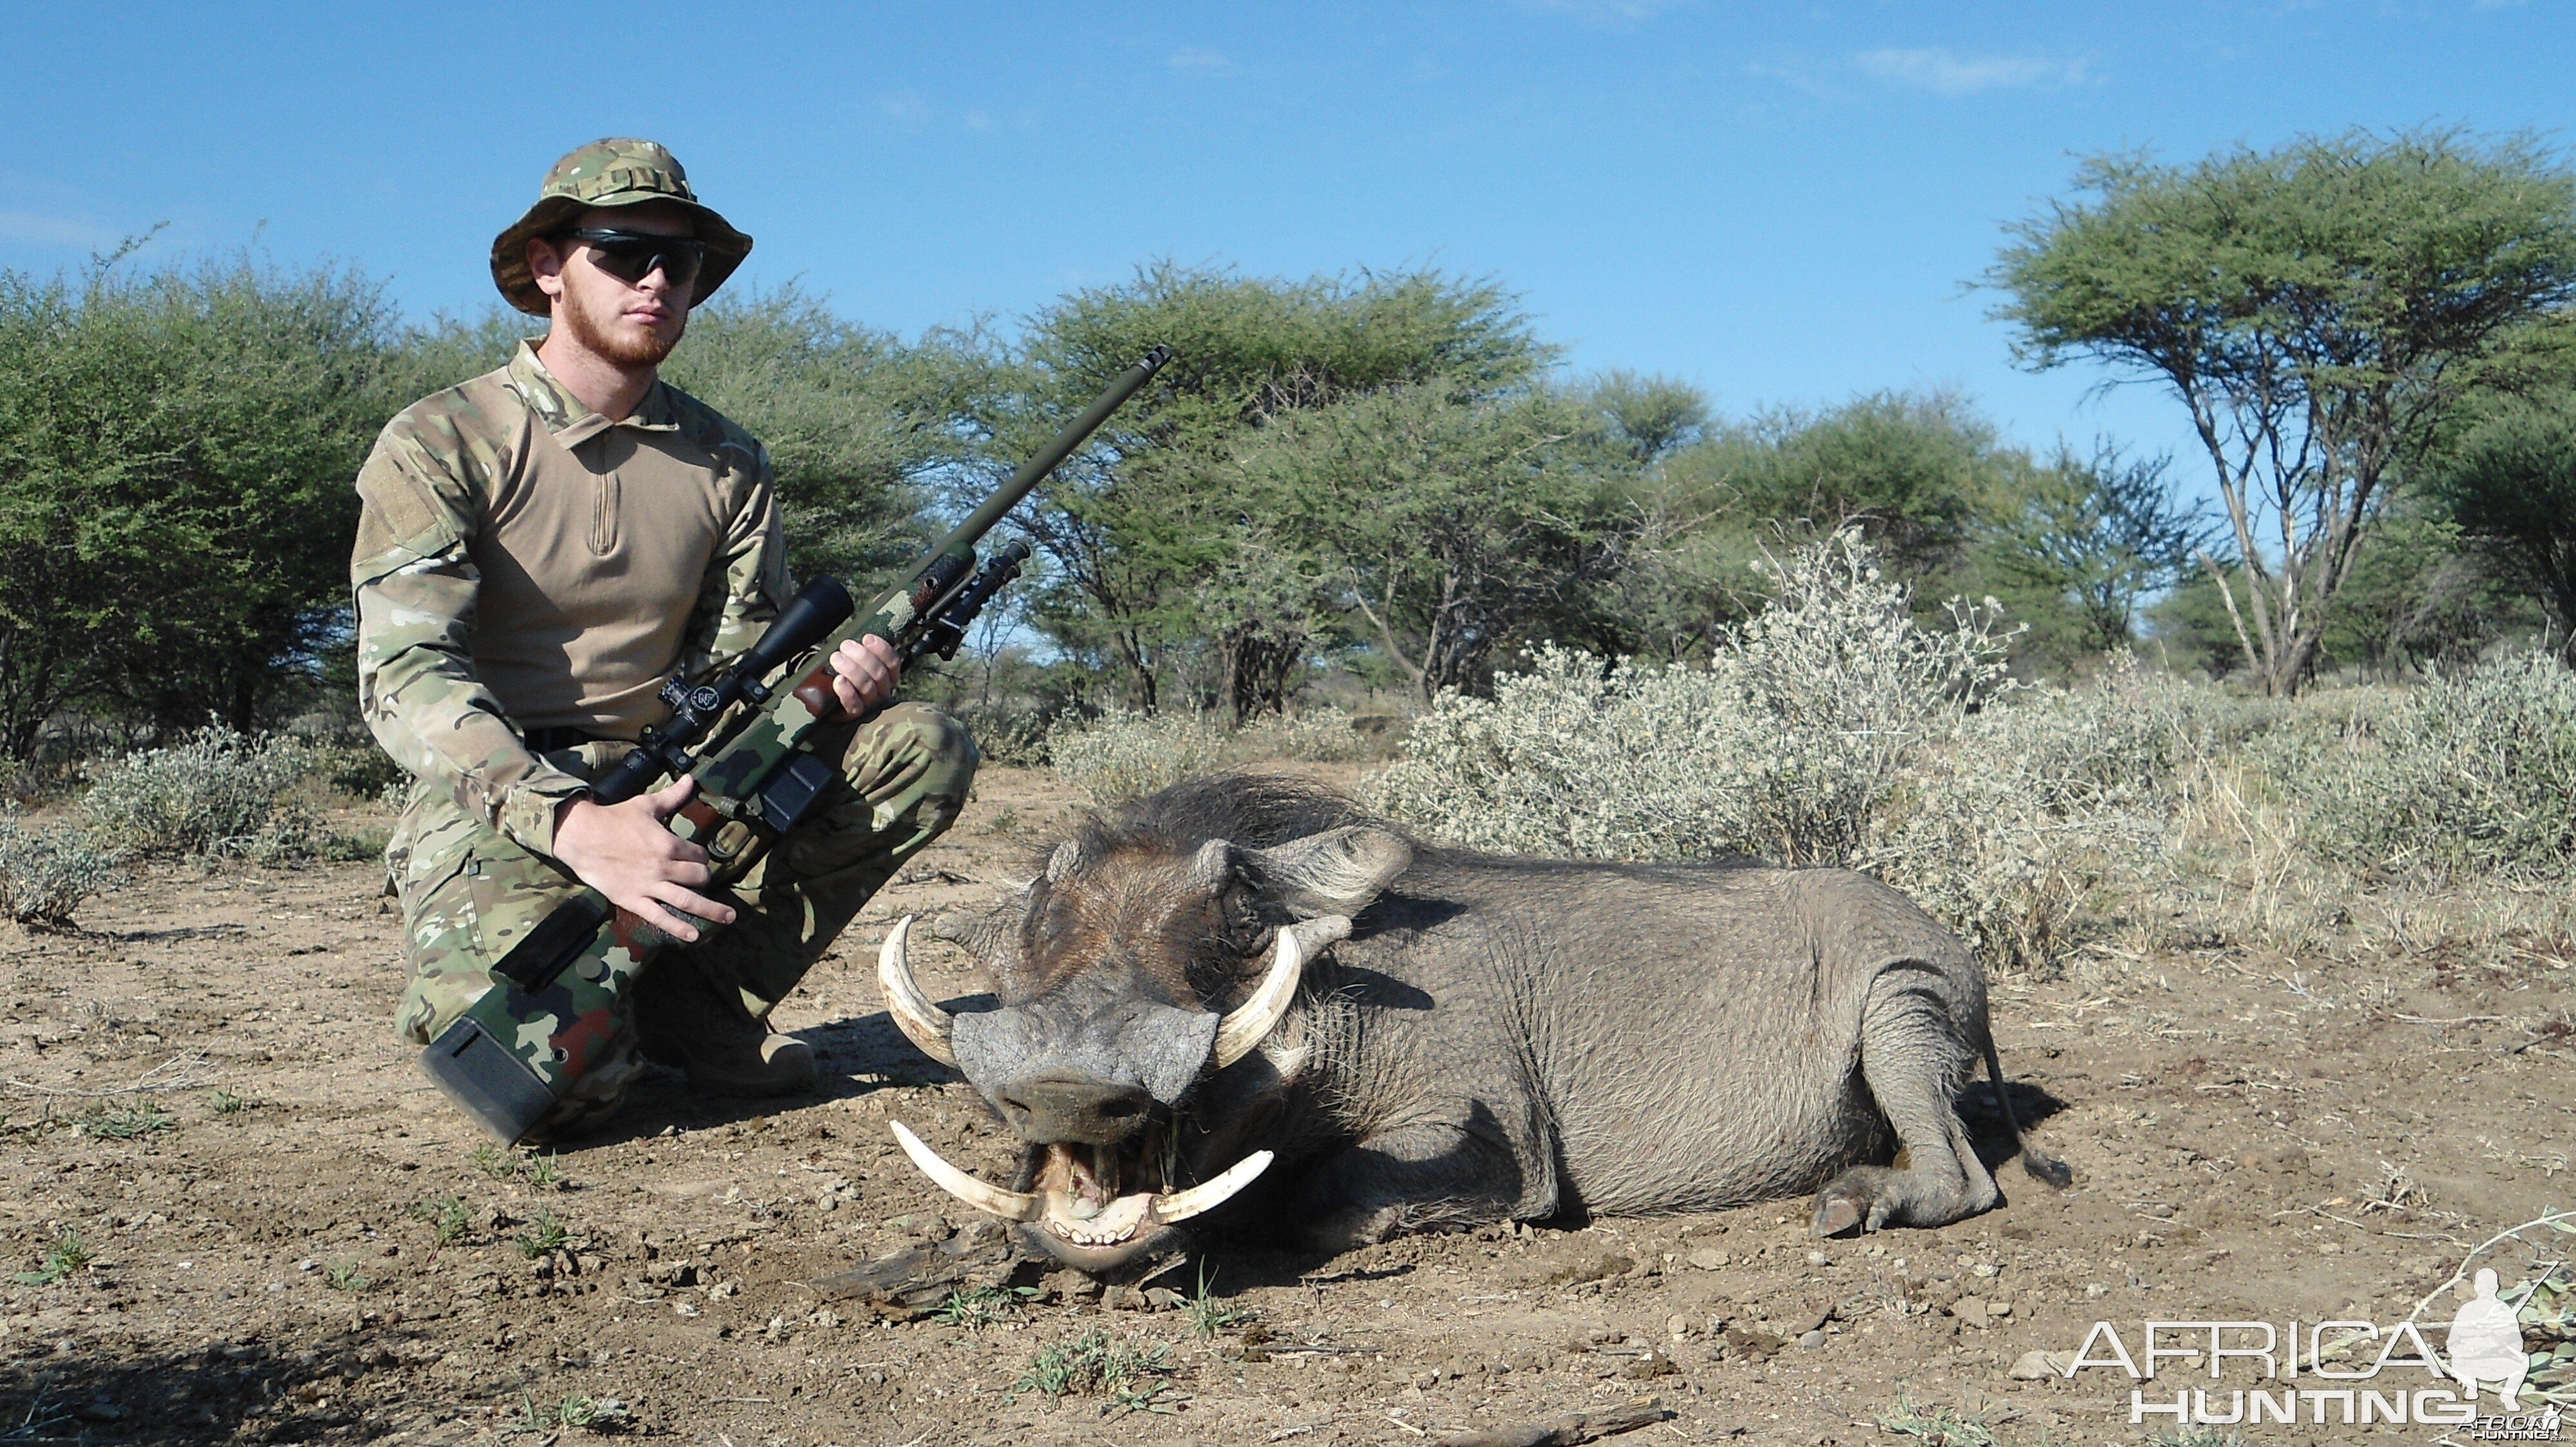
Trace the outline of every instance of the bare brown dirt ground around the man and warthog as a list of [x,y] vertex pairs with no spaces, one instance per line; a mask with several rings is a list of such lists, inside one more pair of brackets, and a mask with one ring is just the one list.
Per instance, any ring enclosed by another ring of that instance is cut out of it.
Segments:
[[[477,1156],[394,1040],[371,865],[152,868],[77,935],[0,935],[0,1442],[585,1442],[582,1398],[721,1447],[1432,1442],[1638,1398],[1677,1416],[1613,1442],[1935,1439],[1906,1424],[1940,1411],[1994,1434],[1955,1442],[2141,1442],[2125,1377],[2007,1370],[2094,1321],[2130,1344],[2146,1318],[2396,1321],[2478,1241],[2576,1205],[2576,950],[2213,950],[1999,981],[2017,1102],[2079,1179],[2012,1169],[2009,1205],[1945,1231],[1819,1244],[1783,1200],[1329,1262],[1236,1246],[1195,1311],[1198,1267],[1151,1293],[1023,1274],[958,1321],[827,1300],[811,1282],[958,1226],[886,1120],[1010,1164],[889,1027],[876,945],[992,896],[1069,808],[987,770],[814,968],[781,1022],[827,1061],[822,1094],[701,1102],[657,1076],[616,1133],[538,1161]],[[933,994],[981,989],[945,945],[917,955]],[[2501,1256],[2506,1282],[2530,1262]],[[1126,1403],[1028,1383],[1092,1331],[1164,1370]]]

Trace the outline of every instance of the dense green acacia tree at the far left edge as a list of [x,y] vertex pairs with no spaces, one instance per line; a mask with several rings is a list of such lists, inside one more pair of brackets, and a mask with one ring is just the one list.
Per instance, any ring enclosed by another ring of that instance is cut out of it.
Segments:
[[263,724],[345,597],[392,378],[353,273],[0,273],[0,754],[72,708]]

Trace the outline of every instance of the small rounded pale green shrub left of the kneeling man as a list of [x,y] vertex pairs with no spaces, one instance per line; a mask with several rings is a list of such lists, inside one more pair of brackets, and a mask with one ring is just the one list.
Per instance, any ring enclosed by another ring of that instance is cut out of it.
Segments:
[[278,793],[309,767],[312,747],[286,734],[245,739],[209,724],[175,747],[98,770],[80,814],[100,839],[137,855],[301,857],[319,842],[319,821]]

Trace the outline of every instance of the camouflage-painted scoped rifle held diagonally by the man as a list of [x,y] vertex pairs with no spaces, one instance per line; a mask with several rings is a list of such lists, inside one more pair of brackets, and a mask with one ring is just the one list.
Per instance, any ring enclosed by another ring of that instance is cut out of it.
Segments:
[[[840,582],[817,577],[721,675],[706,682],[675,675],[662,685],[670,721],[644,729],[636,749],[590,785],[590,798],[618,803],[665,778],[696,775],[698,793],[670,816],[670,832],[706,850],[711,888],[739,881],[840,780],[840,767],[811,752],[817,731],[840,721],[832,651],[845,639],[876,636],[907,667],[930,654],[956,657],[976,613],[1028,561],[1028,543],[1015,541],[976,566],[976,543],[1170,358],[1172,348],[1154,348],[1121,373],[855,621]],[[773,675],[796,682],[773,687]],[[688,919],[701,937],[719,929]],[[585,888],[510,945],[492,966],[492,989],[420,1053],[420,1069],[487,1130],[515,1143],[598,1063],[616,1038],[618,996],[675,945],[639,914]]]

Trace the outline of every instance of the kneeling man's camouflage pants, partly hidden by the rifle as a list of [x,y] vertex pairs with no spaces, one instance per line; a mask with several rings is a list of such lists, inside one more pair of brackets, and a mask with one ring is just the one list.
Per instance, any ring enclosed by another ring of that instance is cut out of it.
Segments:
[[[582,744],[546,762],[598,778],[623,752],[626,744]],[[817,752],[840,760],[840,788],[732,886],[734,924],[657,960],[647,981],[688,971],[714,994],[739,999],[750,1017],[765,1017],[868,896],[956,821],[976,767],[966,729],[920,703],[827,729]],[[554,860],[466,819],[453,798],[422,785],[412,785],[384,863],[402,896],[410,963],[394,1027],[415,1045],[428,1045],[474,1004],[492,986],[500,955],[582,888]],[[618,999],[618,1009],[626,1012],[621,1045],[603,1061],[623,1069],[592,1069],[603,1076],[590,1092],[598,1107],[611,1107],[634,1074],[634,1002]]]

